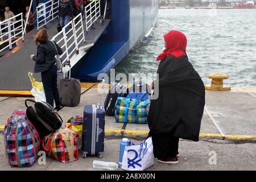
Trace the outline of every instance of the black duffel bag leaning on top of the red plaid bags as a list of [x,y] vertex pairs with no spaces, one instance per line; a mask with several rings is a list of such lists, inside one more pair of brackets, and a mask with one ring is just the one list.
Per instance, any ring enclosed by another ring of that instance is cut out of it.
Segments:
[[[27,101],[34,102],[34,106],[28,106]],[[31,99],[27,99],[25,105],[27,118],[35,126],[40,137],[49,135],[61,127],[63,120],[51,105]]]

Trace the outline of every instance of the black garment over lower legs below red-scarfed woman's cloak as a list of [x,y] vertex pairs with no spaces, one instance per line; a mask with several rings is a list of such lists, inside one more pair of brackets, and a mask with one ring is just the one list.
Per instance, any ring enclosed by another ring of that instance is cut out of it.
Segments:
[[166,159],[177,155],[179,138],[174,137],[172,133],[150,132],[148,136],[152,137],[155,158]]

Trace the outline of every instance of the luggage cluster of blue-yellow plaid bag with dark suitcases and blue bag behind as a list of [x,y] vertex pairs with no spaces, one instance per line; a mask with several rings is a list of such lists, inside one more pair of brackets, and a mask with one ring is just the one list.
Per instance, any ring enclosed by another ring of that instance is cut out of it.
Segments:
[[115,122],[119,123],[147,124],[150,106],[150,94],[147,91],[149,88],[149,85],[134,84],[127,89],[114,82],[106,96],[104,104],[106,114],[114,115]]

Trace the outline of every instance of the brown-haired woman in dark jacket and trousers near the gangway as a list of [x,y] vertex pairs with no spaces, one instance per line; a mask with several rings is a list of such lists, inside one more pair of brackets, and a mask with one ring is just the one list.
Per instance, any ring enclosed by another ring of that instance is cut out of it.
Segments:
[[[35,44],[38,46],[36,55],[31,55],[30,59],[35,61],[35,73],[41,73],[44,92],[46,93],[46,102],[53,107],[55,101],[55,109],[60,109],[60,96],[57,89],[57,67],[55,64],[55,55],[57,51],[59,55],[63,53],[62,49],[56,44],[48,40],[47,30],[43,28],[35,36]],[[54,100],[54,101],[53,101]]]

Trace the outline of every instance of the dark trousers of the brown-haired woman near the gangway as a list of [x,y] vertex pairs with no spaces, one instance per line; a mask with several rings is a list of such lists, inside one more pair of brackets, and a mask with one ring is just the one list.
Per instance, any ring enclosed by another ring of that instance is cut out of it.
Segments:
[[[57,67],[52,65],[47,71],[41,73],[44,92],[46,93],[46,102],[53,107],[60,106],[59,90],[57,88]],[[54,101],[53,101],[54,100]]]

